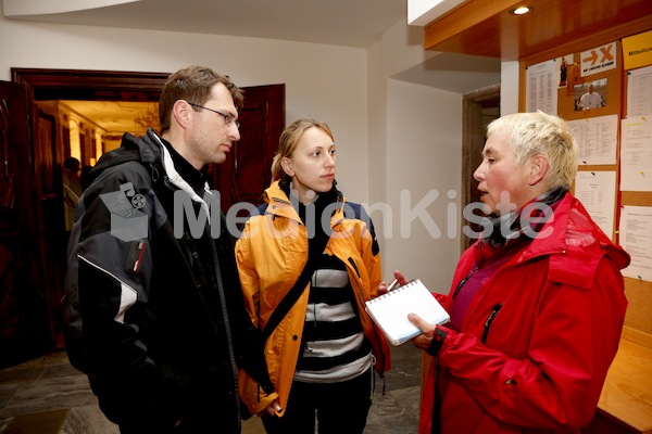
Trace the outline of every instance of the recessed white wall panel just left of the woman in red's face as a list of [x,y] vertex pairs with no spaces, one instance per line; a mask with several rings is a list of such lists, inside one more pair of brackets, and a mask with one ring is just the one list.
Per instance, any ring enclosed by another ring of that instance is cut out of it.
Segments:
[[462,97],[390,80],[389,101],[386,275],[398,268],[448,293],[460,254],[448,210],[460,209]]

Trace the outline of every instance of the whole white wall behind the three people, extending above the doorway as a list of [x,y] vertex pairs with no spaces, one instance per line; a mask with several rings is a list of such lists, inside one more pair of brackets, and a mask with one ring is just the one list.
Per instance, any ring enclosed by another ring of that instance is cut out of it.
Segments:
[[[443,228],[446,206],[459,202],[446,194],[460,191],[461,95],[391,79],[432,55],[423,50],[422,29],[404,22],[363,50],[0,16],[0,80],[11,80],[11,67],[172,73],[202,64],[228,74],[238,86],[285,84],[286,124],[311,116],[331,126],[337,178],[349,200],[397,205],[400,190],[421,197],[435,189],[444,195],[428,213]],[[448,288],[460,254],[457,240],[434,239],[418,221],[403,239],[398,220],[389,237],[383,216],[378,221],[372,217],[385,278],[399,268],[434,290]]]

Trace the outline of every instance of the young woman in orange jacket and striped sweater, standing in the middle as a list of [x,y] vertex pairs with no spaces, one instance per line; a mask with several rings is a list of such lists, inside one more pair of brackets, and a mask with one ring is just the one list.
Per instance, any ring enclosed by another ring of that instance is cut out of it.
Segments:
[[[362,433],[374,368],[379,375],[390,368],[387,341],[364,310],[383,281],[374,227],[362,206],[346,202],[336,188],[335,142],[326,124],[299,119],[286,128],[272,173],[266,204],[236,245],[244,303],[261,330],[306,263],[314,271],[266,341],[281,410],[262,413],[265,430],[313,434],[316,421],[319,433]],[[240,379],[252,413],[269,406],[251,378]]]

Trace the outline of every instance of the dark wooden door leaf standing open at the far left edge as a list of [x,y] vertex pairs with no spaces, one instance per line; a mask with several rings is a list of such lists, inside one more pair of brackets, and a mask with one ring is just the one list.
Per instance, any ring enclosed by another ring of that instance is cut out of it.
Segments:
[[25,86],[0,81],[0,366],[49,348]]

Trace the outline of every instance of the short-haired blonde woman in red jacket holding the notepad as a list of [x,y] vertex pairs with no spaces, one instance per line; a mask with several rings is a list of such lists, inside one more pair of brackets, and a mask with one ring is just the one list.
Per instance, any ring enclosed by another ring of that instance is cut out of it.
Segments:
[[579,434],[593,418],[630,257],[570,192],[577,155],[557,116],[514,113],[487,127],[474,173],[487,225],[439,297],[451,322],[410,317],[424,332],[413,344],[437,358],[419,434]]

